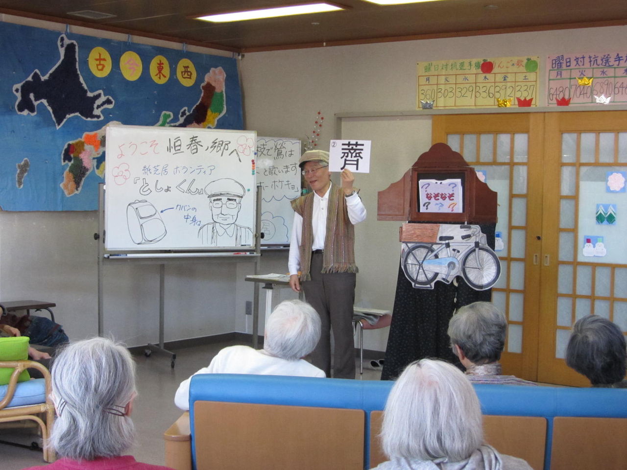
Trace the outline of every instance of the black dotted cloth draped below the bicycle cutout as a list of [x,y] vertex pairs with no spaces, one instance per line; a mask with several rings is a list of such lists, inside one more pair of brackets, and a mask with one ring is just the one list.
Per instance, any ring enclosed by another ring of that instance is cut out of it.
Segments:
[[[488,246],[494,248],[495,224],[480,225]],[[436,281],[433,290],[414,289],[399,261],[394,310],[381,380],[395,380],[411,362],[440,358],[461,368],[451,350],[446,330],[453,312],[461,306],[492,300],[492,290],[476,291],[457,276],[455,283]]]

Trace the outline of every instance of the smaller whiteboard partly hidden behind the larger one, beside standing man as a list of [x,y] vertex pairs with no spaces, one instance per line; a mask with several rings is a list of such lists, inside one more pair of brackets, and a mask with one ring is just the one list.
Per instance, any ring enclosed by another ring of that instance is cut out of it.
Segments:
[[261,244],[288,245],[293,214],[290,201],[300,196],[300,140],[257,137],[257,184],[261,192]]

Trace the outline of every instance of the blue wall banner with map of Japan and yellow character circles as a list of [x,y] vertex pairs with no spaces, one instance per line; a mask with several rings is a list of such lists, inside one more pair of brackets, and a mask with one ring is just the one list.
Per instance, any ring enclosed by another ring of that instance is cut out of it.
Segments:
[[0,207],[92,211],[108,124],[241,129],[234,58],[3,23]]

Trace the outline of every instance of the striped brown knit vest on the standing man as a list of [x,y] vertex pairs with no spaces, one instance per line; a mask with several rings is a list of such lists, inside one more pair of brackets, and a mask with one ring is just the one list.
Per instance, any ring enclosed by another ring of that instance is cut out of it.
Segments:
[[[311,279],[310,266],[314,229],[314,192],[305,194],[292,201],[292,209],[303,217],[303,230],[300,239],[300,280]],[[329,209],[327,211],[327,232],[324,237],[322,255],[322,273],[357,273],[355,265],[355,229],[350,223],[346,209],[344,191],[337,185],[331,185],[329,191]]]

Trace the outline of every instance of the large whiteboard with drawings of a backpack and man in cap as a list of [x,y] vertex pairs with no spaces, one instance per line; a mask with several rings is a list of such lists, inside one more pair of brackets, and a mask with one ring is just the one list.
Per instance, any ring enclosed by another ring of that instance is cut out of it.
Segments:
[[254,131],[107,127],[105,248],[253,247]]

